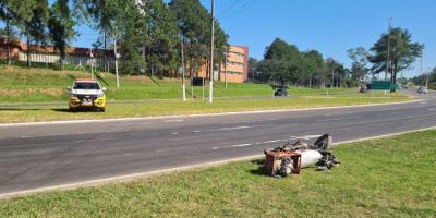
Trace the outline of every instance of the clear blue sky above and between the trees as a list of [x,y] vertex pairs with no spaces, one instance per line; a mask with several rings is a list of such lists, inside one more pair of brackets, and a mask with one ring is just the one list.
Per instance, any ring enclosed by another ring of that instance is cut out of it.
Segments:
[[[201,0],[209,9],[211,0]],[[279,37],[300,50],[316,49],[350,66],[347,50],[372,47],[388,28],[407,28],[412,39],[425,44],[423,71],[436,66],[435,0],[215,0],[216,17],[232,45],[250,48],[262,59],[265,47]],[[89,47],[96,32],[83,25],[73,43]],[[404,72],[411,77],[414,69]]]

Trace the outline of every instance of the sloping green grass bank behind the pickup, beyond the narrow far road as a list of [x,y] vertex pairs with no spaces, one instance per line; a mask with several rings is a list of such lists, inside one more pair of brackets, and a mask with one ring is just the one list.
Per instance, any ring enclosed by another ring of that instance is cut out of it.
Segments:
[[[74,78],[89,77],[90,74],[77,71],[53,71],[51,69],[27,69],[0,64],[0,104],[11,102],[48,102],[65,101],[69,97],[66,86]],[[144,100],[181,98],[181,81],[178,78],[150,78],[147,76],[121,76],[120,87],[116,87],[113,74],[98,73],[100,84],[108,88],[109,100]],[[266,84],[229,83],[228,89],[223,83],[215,83],[214,96],[271,96],[272,87]],[[186,81],[187,96],[191,96],[189,80]],[[351,90],[334,88],[330,92]],[[326,93],[326,89],[295,88],[289,89],[290,95],[313,95]],[[208,87],[205,96],[208,95]],[[202,87],[194,88],[194,97],[203,98]]]

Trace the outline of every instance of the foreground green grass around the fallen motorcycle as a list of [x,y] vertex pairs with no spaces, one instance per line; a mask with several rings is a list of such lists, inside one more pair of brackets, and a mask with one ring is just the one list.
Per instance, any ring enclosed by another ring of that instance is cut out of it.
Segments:
[[[0,217],[434,217],[436,131],[341,145],[274,179],[263,160],[0,201]],[[259,150],[262,154],[262,150]]]

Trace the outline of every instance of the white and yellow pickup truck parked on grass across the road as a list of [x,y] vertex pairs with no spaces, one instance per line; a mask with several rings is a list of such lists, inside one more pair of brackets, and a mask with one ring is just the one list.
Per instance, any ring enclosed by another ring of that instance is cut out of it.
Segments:
[[106,96],[104,90],[106,90],[106,87],[101,87],[97,81],[77,78],[68,89],[70,90],[70,110],[93,108],[105,111]]

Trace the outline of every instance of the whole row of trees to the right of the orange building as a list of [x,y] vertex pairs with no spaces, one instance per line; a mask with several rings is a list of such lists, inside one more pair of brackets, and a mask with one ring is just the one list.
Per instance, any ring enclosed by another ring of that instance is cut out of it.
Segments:
[[250,78],[279,86],[317,88],[359,86],[371,78],[397,83],[398,73],[410,70],[423,49],[423,44],[412,41],[409,31],[389,28],[368,50],[349,49],[352,63],[348,69],[334,58],[324,59],[317,50],[300,51],[295,45],[276,38],[265,48],[263,60],[249,60]]

